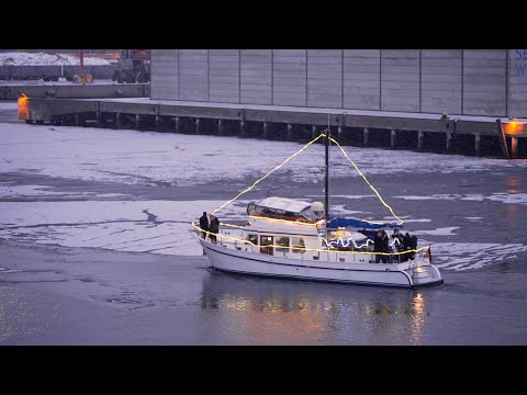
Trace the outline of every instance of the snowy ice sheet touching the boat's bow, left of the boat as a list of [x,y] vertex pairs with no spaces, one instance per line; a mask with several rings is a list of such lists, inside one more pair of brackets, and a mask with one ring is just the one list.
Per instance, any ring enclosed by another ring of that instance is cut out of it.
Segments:
[[[0,237],[66,247],[201,256],[189,232],[203,211],[223,201],[0,202]],[[247,201],[222,211],[222,221],[245,218]]]

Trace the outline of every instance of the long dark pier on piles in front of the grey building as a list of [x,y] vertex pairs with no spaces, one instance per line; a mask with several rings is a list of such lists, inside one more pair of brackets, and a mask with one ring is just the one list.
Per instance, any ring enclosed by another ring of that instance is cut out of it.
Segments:
[[[127,87],[127,86],[123,86]],[[360,111],[147,98],[22,98],[19,117],[33,124],[148,129],[304,142],[329,126],[345,145],[450,154],[527,157],[527,120]]]

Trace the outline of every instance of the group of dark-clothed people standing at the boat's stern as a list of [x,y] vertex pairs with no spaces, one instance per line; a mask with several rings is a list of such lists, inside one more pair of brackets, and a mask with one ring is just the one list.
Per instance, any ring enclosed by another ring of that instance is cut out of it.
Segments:
[[403,234],[399,229],[395,229],[391,237],[393,239],[392,242],[390,242],[390,238],[388,237],[384,229],[379,229],[373,239],[373,251],[383,253],[394,253],[403,251],[408,252],[395,256],[378,253],[375,255],[375,263],[379,263],[380,261],[382,261],[382,263],[405,262],[410,259],[413,260],[415,258],[415,252],[412,250],[415,250],[417,248],[416,236],[410,236],[407,232],[403,236]]

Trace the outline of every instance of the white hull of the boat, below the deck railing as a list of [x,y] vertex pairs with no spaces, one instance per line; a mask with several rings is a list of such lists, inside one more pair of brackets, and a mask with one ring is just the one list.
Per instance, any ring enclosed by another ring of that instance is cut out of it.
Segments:
[[200,239],[212,267],[250,275],[391,286],[422,286],[442,283],[433,264],[412,268],[411,263],[343,263],[291,259],[240,251]]

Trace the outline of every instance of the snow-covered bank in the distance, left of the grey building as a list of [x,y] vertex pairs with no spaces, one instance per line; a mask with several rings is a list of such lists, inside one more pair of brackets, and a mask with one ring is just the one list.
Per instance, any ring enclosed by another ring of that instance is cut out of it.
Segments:
[[[80,65],[78,56],[44,53],[0,53],[0,65],[3,66],[60,66]],[[86,66],[105,66],[110,63],[102,58],[85,57]]]

